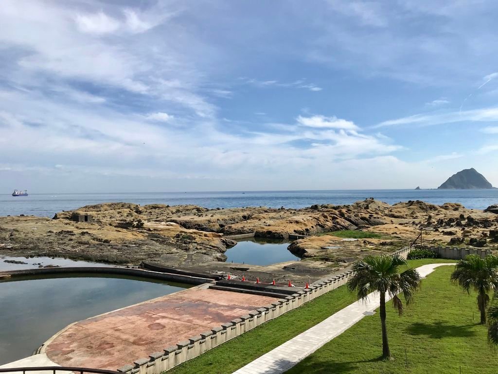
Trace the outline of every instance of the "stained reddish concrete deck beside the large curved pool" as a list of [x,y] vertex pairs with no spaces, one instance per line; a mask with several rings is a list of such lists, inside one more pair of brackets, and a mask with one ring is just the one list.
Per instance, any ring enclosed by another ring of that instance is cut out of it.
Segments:
[[60,366],[116,370],[276,300],[194,287],[72,324],[41,353]]

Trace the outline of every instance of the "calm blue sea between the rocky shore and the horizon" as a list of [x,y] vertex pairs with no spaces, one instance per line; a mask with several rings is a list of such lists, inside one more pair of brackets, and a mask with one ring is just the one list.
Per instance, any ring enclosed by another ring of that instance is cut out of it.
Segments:
[[459,202],[472,209],[498,203],[498,189],[377,189],[327,191],[228,191],[228,192],[137,192],[137,193],[30,193],[25,197],[0,194],[0,216],[31,214],[52,217],[56,212],[101,202],[124,201],[145,204],[195,204],[208,208],[268,206],[302,208],[313,204],[350,204],[373,197],[393,204],[423,200],[433,204]]

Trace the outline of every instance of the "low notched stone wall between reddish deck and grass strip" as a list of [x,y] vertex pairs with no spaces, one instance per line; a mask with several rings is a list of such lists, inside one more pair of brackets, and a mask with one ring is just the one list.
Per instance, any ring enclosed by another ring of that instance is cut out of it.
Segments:
[[[398,254],[406,259],[410,251],[411,247],[403,248],[393,254]],[[309,289],[301,289],[284,299],[279,299],[270,305],[251,311],[247,315],[214,327],[210,331],[194,336],[189,340],[179,342],[176,346],[165,348],[162,352],[151,353],[148,358],[136,360],[133,365],[126,365],[118,369],[118,372],[126,374],[160,374],[318,296],[335,290],[346,284],[352,274],[353,272],[349,270],[340,275],[312,283]]]

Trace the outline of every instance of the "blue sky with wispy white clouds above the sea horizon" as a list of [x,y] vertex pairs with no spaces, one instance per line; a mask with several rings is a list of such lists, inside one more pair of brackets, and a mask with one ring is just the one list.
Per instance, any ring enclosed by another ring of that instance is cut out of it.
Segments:
[[498,186],[495,1],[0,7],[0,190]]

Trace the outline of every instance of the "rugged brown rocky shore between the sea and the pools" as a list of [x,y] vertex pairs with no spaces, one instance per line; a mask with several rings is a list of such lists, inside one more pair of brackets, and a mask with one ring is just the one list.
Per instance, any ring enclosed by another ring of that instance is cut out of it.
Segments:
[[[0,217],[0,254],[62,256],[128,266],[153,262],[270,280],[320,278],[368,254],[410,245],[421,230],[425,243],[493,249],[498,245],[490,237],[498,228],[496,212],[494,206],[483,211],[418,200],[389,205],[373,198],[302,209],[104,203],[59,212],[53,219]],[[91,221],[75,219],[84,215]],[[348,237],[345,230],[361,235]],[[230,236],[239,234],[281,240],[300,237],[288,249],[302,260],[269,266],[226,263],[224,253],[237,244]]]

